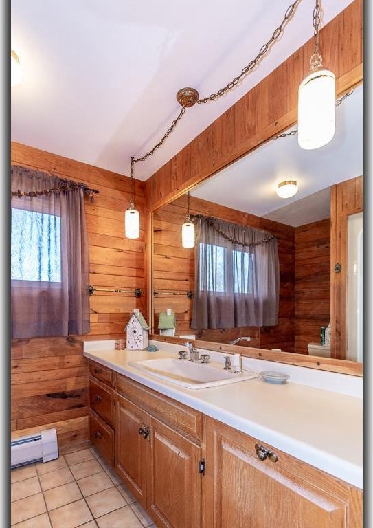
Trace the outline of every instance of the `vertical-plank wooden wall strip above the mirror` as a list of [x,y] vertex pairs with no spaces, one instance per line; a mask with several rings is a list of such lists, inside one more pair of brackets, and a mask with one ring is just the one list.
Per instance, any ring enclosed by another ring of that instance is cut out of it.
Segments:
[[[295,15],[290,30],[296,23]],[[321,29],[320,45],[324,63],[335,73],[337,94],[362,80],[362,0],[354,0]],[[150,209],[177,198],[295,123],[297,91],[308,72],[312,53],[313,39],[310,39],[157,170],[146,181]]]

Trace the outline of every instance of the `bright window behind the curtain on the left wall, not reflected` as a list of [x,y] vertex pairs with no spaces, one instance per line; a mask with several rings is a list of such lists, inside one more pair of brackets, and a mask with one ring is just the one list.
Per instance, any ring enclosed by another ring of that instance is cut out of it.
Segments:
[[59,216],[12,208],[11,278],[61,282]]

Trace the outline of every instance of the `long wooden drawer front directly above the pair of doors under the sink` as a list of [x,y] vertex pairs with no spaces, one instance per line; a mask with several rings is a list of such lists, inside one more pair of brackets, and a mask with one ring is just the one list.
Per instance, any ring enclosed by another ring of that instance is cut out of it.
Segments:
[[121,374],[117,374],[116,390],[155,418],[185,433],[188,437],[201,440],[202,415],[198,410],[179,404],[178,401]]

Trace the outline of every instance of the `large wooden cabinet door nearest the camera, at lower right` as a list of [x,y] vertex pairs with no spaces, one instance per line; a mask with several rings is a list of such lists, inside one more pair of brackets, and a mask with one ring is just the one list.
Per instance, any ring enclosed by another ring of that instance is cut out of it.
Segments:
[[203,527],[363,525],[360,490],[278,450],[260,461],[255,439],[218,421],[206,419],[205,434]]

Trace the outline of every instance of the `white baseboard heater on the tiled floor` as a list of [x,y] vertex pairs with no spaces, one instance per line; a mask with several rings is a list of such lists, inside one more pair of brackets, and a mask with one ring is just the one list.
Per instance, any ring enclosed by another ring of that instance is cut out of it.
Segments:
[[10,453],[12,469],[33,462],[57,459],[56,429],[47,429],[39,434],[29,434],[12,440]]

